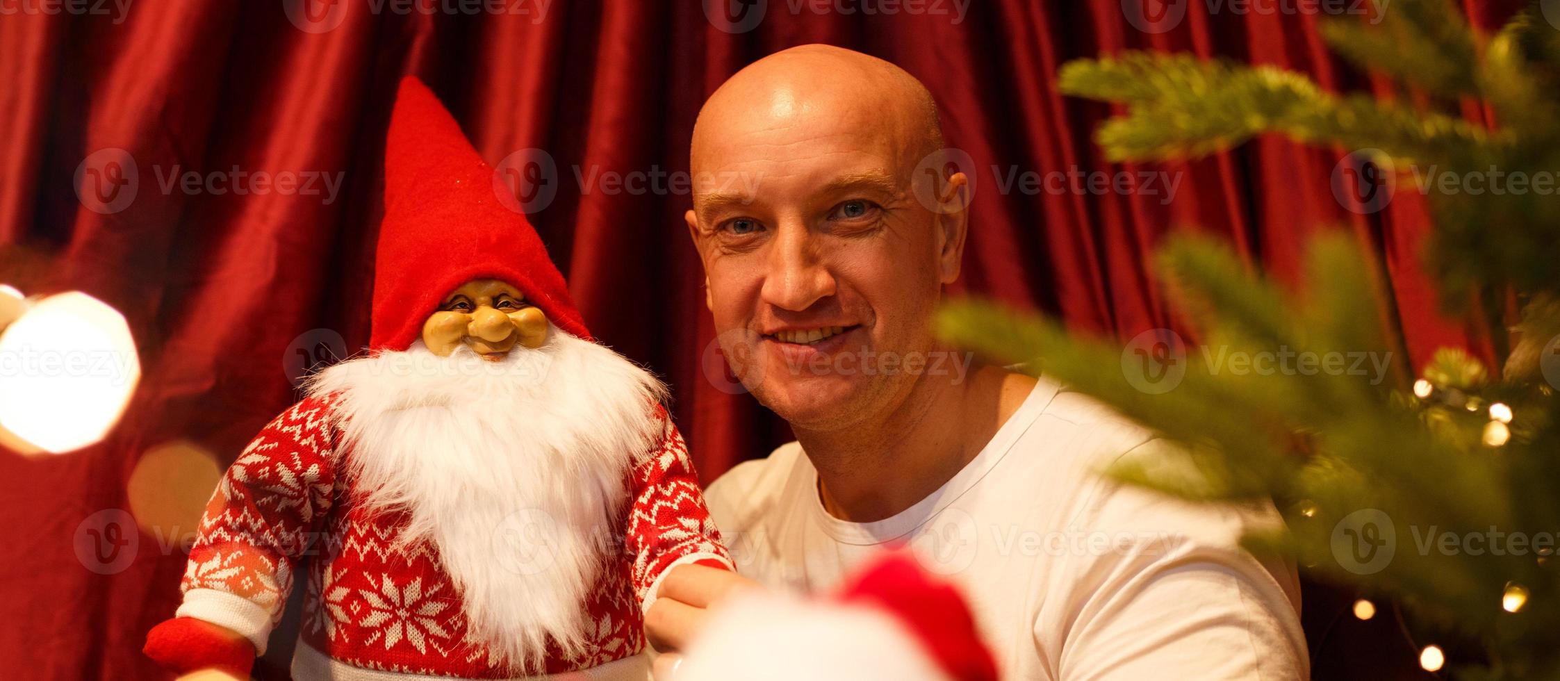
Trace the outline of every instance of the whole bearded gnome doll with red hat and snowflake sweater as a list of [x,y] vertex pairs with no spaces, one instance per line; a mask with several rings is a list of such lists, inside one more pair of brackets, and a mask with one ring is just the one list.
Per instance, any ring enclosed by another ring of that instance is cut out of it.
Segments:
[[306,566],[295,678],[643,679],[661,575],[730,567],[665,388],[591,341],[491,178],[404,79],[370,352],[223,475],[147,655],[246,676]]

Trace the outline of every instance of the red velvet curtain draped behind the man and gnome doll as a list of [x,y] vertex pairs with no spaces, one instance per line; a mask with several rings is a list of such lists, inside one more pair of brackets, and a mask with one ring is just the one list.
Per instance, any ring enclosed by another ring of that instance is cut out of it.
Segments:
[[[707,480],[766,453],[786,429],[749,396],[722,390],[730,383],[711,352],[699,259],[682,223],[686,184],[668,173],[686,171],[694,115],[716,86],[807,42],[883,56],[938,97],[950,146],[975,165],[964,291],[1061,315],[1080,330],[1131,335],[1175,326],[1145,274],[1164,234],[1225,235],[1253,265],[1296,281],[1306,238],[1342,224],[1381,256],[1404,366],[1441,344],[1488,352],[1470,326],[1437,315],[1415,257],[1427,229],[1416,196],[1368,217],[1334,199],[1331,173],[1346,150],[1262,139],[1189,165],[1112,165],[1090,142],[1109,108],[1056,90],[1067,59],[1147,47],[1371,87],[1326,53],[1312,14],[1143,0],[1150,12],[1186,11],[1172,30],[1150,33],[1126,17],[1137,0],[485,6],[498,11],[462,0],[90,0],[81,12],[37,9],[47,5],[19,0],[8,3],[19,11],[0,14],[0,126],[9,131],[0,282],[111,302],[133,326],[145,377],[108,441],[55,457],[0,452],[0,659],[33,678],[156,675],[139,647],[176,605],[178,539],[193,519],[175,514],[183,527],[168,527],[137,517],[128,559],[105,567],[94,563],[101,555],[78,552],[89,545],[83,533],[103,522],[94,514],[140,516],[148,502],[137,496],[147,494],[193,496],[198,508],[211,480],[145,466],[148,452],[226,466],[296,397],[290,379],[309,357],[367,341],[384,131],[404,73],[445,98],[490,162],[519,150],[554,162],[555,193],[532,220],[591,330],[669,380]],[[735,14],[711,20],[707,8]],[[100,213],[92,207],[101,203],[78,198],[78,167],[126,156],[139,178],[126,207]],[[1003,192],[1023,173],[1073,170],[1162,170],[1179,185],[1173,196],[1168,185]],[[179,181],[189,171],[201,179],[195,189]],[[268,192],[254,173],[273,176]],[[290,192],[285,173],[298,173]],[[616,178],[627,182],[619,189]],[[328,181],[340,182],[334,193]]]

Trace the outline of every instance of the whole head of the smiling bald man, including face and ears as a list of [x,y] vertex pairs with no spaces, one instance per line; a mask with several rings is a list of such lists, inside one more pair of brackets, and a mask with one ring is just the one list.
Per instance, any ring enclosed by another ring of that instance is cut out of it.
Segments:
[[927,87],[838,47],[766,56],[699,112],[685,220],[707,304],[732,369],[797,433],[850,427],[924,385],[855,360],[936,348],[969,196],[939,150]]

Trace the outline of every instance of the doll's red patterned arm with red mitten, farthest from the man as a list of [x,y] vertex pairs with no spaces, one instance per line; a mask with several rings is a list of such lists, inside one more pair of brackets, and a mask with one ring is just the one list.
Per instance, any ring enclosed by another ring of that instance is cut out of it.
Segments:
[[248,676],[287,603],[293,563],[331,508],[332,457],[328,397],[298,402],[243,449],[206,505],[184,603],[147,636],[150,658],[178,673]]

